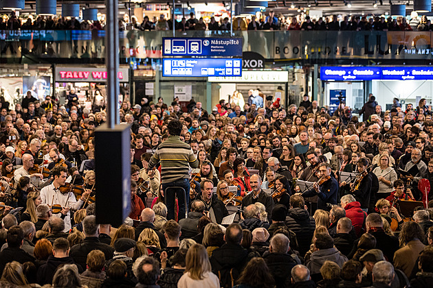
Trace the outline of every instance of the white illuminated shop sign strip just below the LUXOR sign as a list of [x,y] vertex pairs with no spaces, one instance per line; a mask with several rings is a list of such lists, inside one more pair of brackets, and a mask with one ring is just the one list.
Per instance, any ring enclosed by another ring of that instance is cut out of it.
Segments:
[[219,83],[285,83],[289,81],[288,71],[242,71],[241,77],[208,77],[209,82]]

